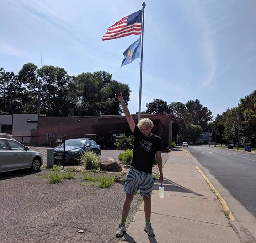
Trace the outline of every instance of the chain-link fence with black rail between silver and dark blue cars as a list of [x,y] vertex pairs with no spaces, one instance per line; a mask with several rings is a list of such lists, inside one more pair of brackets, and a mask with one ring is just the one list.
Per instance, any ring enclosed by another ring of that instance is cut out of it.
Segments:
[[37,151],[43,157],[42,164],[46,166],[47,148],[54,148],[54,160],[60,162],[65,158],[66,136],[12,136],[16,141],[31,150]]

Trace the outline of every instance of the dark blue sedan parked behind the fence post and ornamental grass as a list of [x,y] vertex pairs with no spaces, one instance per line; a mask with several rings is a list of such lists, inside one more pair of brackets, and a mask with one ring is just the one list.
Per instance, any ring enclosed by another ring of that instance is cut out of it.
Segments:
[[65,155],[64,143],[62,143],[54,148],[53,161],[79,162],[84,151],[94,151],[97,155],[101,155],[101,146],[90,139],[68,139],[65,141]]

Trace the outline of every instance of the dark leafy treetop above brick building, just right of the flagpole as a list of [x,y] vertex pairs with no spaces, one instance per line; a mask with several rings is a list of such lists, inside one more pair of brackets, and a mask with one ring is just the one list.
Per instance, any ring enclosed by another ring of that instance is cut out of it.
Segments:
[[146,112],[148,114],[165,115],[171,114],[171,108],[166,101],[162,99],[153,99],[152,102],[146,103]]

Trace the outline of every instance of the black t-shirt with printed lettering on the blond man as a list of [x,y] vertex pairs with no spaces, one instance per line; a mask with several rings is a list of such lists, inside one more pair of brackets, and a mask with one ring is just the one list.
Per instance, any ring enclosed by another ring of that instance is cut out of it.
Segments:
[[156,151],[161,151],[161,138],[153,133],[152,136],[145,137],[138,126],[135,126],[133,135],[134,147],[131,166],[151,174]]

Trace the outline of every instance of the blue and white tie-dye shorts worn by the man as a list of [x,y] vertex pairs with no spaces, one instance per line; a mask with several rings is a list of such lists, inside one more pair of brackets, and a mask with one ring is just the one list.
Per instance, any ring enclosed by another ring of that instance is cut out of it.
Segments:
[[149,198],[153,190],[153,184],[154,180],[151,174],[130,167],[123,191],[135,195],[140,190],[141,196]]

